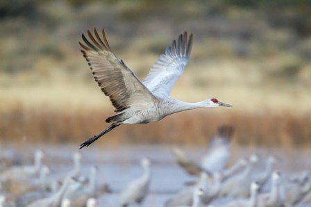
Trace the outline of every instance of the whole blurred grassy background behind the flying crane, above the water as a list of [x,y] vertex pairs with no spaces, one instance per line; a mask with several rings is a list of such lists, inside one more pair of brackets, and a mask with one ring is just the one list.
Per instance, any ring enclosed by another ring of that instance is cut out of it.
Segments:
[[3,1],[0,140],[79,143],[107,126],[112,106],[78,46],[96,26],[140,78],[179,33],[194,33],[172,96],[234,105],[121,126],[101,143],[201,144],[233,124],[238,144],[310,146],[311,5],[256,2]]

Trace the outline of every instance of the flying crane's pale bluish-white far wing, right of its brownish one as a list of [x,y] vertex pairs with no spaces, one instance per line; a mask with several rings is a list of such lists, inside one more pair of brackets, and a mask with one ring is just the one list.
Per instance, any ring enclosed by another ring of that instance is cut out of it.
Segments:
[[183,73],[192,48],[192,34],[189,39],[187,32],[180,34],[165,53],[155,61],[143,83],[153,94],[160,97],[169,96],[171,88]]

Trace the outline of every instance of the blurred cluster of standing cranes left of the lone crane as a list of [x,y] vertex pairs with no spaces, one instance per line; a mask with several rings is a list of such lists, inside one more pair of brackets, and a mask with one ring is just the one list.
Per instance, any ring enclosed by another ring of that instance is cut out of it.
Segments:
[[[66,174],[51,173],[43,165],[42,150],[35,151],[33,165],[15,165],[15,158],[1,154],[0,194],[3,199],[0,206],[95,206],[97,191],[96,167],[91,167],[90,176],[81,172],[81,154],[73,156],[74,167]],[[8,167],[12,165],[12,167]]]

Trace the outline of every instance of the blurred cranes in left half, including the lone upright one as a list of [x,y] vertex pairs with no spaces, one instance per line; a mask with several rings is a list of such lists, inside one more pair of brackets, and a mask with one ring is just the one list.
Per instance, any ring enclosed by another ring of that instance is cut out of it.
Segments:
[[[44,152],[35,151],[33,165],[22,165],[20,156],[8,156],[12,151],[1,151],[0,207],[94,207],[99,206],[96,197],[110,193],[105,183],[97,179],[98,169],[90,168],[89,176],[81,174],[81,154],[72,157],[73,167],[65,174],[51,173],[42,163]],[[18,158],[18,162],[16,160]],[[143,174],[129,183],[119,195],[119,206],[143,201],[151,179],[150,160],[141,160]]]

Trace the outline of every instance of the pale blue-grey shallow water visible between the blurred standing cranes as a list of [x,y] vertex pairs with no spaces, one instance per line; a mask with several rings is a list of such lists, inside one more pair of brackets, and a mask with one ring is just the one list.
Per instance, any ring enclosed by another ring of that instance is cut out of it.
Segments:
[[[99,182],[107,183],[113,191],[99,197],[99,206],[117,206],[119,191],[142,173],[140,159],[144,157],[151,159],[152,180],[150,193],[142,206],[163,206],[169,197],[183,188],[183,183],[194,180],[194,177],[187,175],[178,167],[169,146],[97,147],[94,144],[81,150],[78,150],[78,144],[39,147],[46,152],[44,163],[49,165],[53,172],[64,174],[68,172],[72,168],[71,158],[75,151],[80,151],[83,156],[81,160],[83,174],[87,175],[92,165],[99,167]],[[22,151],[28,161],[31,160],[31,151],[33,147],[25,147]],[[185,148],[185,151],[197,161],[204,154],[203,147]],[[311,168],[309,161],[311,152],[308,150],[238,148],[232,152],[230,163],[253,153],[259,154],[262,158],[258,168],[264,165],[264,158],[269,154],[277,156],[279,161],[277,168],[280,172],[294,173]]]

